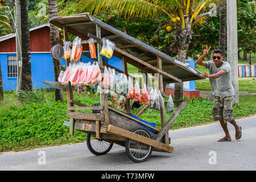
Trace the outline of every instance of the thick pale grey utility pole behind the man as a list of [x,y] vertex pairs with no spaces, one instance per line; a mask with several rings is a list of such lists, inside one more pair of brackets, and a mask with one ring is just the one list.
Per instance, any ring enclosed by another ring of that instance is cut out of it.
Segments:
[[238,50],[237,50],[237,0],[226,0],[227,61],[231,67],[235,103],[239,104]]

